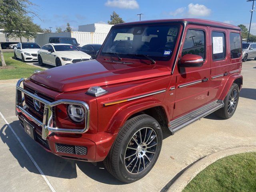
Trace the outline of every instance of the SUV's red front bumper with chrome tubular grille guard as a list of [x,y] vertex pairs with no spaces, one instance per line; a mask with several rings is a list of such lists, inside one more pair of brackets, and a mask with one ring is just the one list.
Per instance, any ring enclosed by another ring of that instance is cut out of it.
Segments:
[[[48,102],[21,88],[20,84],[23,81],[24,78],[18,80],[16,84],[16,115],[19,117],[22,127],[24,127],[23,122],[26,121],[35,128],[35,140],[45,150],[61,156],[62,158],[71,158],[89,162],[102,161],[106,158],[114,139],[116,138],[116,134],[110,134],[107,132],[97,134],[86,133],[89,128],[90,110],[89,106],[85,102],[77,100],[58,100],[55,102]],[[43,122],[32,116],[32,114],[26,110],[26,105],[23,106],[24,98],[22,98],[22,93],[44,103]],[[77,104],[83,106],[87,110],[86,125],[84,129],[52,127],[52,107],[58,104]],[[74,147],[86,147],[86,154],[60,152],[56,147],[58,144]]]

